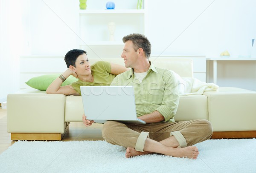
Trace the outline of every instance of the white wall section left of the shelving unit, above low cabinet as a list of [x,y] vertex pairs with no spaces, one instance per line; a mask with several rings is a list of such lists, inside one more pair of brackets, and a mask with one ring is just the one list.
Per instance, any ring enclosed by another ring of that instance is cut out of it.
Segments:
[[79,0],[30,0],[30,54],[64,56],[77,48],[78,6]]

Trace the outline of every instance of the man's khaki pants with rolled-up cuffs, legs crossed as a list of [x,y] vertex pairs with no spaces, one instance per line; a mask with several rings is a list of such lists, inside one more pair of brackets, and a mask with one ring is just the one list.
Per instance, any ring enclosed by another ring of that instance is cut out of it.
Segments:
[[145,125],[108,121],[102,127],[102,136],[107,142],[123,147],[133,147],[137,151],[143,151],[147,137],[160,142],[172,135],[179,142],[179,147],[191,146],[209,139],[212,136],[212,125],[208,120],[196,119]]

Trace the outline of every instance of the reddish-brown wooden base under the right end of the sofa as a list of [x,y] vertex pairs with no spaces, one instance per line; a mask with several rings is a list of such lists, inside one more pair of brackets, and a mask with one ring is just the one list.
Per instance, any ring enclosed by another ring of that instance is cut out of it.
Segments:
[[254,131],[221,131],[213,132],[211,139],[237,139],[237,138],[255,138]]

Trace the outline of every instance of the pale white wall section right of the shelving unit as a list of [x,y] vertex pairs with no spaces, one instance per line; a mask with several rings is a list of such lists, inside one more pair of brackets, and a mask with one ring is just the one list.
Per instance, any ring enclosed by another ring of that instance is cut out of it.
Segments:
[[255,7],[255,0],[148,0],[146,35],[155,54],[249,57]]

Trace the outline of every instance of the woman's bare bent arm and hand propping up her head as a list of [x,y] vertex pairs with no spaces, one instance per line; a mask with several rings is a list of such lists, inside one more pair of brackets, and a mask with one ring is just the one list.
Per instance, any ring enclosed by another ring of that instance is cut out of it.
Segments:
[[[71,70],[70,68],[68,68],[66,71],[64,71],[64,73],[62,74],[62,76],[64,78],[68,78],[70,75],[73,75],[74,77],[77,77],[77,74]],[[76,90],[74,90],[72,88],[71,85],[66,85],[66,86],[61,86],[62,84],[62,80],[57,77],[47,88],[46,93],[47,94],[65,94],[67,95],[78,95],[79,93],[76,92]]]

